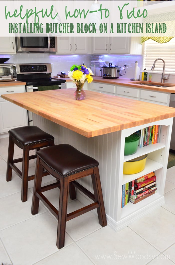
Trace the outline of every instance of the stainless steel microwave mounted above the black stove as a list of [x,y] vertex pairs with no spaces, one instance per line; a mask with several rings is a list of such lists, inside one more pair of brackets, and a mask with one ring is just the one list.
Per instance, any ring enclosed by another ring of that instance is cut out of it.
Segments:
[[57,37],[16,37],[17,52],[56,52]]

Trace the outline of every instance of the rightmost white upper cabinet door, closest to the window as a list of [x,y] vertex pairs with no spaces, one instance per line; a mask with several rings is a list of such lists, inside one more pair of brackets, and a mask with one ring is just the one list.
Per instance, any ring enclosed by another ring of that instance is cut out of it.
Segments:
[[130,37],[110,37],[109,53],[111,54],[128,54],[130,53]]

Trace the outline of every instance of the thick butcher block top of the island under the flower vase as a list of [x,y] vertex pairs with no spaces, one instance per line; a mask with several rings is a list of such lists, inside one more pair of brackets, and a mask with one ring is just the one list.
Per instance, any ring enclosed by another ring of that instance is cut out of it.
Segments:
[[164,120],[175,108],[86,91],[75,100],[75,89],[2,95],[2,98],[86,137]]

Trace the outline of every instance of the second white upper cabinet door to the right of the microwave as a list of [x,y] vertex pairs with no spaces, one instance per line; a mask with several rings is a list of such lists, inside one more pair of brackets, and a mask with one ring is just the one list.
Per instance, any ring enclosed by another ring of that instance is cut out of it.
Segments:
[[74,37],[74,53],[75,54],[88,53],[88,37]]

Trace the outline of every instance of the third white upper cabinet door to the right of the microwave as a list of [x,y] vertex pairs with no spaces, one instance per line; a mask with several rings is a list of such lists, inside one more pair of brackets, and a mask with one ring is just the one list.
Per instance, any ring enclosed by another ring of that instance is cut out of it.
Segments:
[[107,54],[109,50],[108,37],[93,37],[92,39],[92,52],[93,54]]

